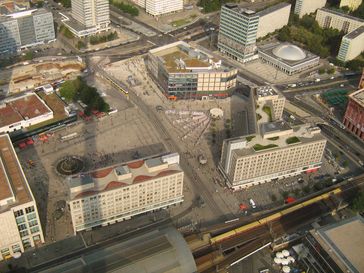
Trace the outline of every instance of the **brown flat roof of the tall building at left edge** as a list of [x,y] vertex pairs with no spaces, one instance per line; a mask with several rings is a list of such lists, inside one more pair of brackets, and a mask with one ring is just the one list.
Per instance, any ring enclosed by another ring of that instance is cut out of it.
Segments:
[[9,135],[0,135],[0,212],[33,200]]

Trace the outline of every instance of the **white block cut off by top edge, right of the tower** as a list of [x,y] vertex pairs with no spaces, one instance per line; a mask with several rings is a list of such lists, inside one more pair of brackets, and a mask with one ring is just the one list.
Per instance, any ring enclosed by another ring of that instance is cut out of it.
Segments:
[[152,16],[183,10],[183,0],[132,0]]

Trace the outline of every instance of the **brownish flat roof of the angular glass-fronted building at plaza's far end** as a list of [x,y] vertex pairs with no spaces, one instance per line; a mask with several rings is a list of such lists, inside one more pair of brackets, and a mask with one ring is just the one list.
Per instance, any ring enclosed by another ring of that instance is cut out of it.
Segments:
[[221,65],[221,60],[194,49],[182,41],[152,49],[150,53],[158,57],[170,73],[229,71],[232,69]]

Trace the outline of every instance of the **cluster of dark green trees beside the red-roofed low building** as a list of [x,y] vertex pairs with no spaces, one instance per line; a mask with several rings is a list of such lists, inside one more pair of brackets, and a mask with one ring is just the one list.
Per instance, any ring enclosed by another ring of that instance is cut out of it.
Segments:
[[90,115],[93,110],[107,112],[110,109],[109,104],[100,96],[97,89],[88,86],[80,77],[76,80],[63,83],[60,88],[60,93],[68,102],[81,100],[86,104],[86,115]]

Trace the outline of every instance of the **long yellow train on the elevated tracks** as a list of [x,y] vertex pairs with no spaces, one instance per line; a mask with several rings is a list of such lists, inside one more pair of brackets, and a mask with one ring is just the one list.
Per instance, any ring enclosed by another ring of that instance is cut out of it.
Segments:
[[238,227],[236,229],[233,229],[233,230],[230,230],[230,231],[227,231],[225,233],[222,233],[220,235],[217,235],[215,237],[212,237],[210,239],[210,244],[213,245],[213,244],[217,244],[219,242],[222,242],[224,240],[227,240],[229,238],[232,238],[232,237],[235,237],[243,232],[246,232],[250,229],[254,229],[254,228],[257,228],[257,227],[260,227],[260,226],[263,226],[269,222],[272,222],[272,221],[275,221],[275,220],[278,220],[280,219],[282,216],[285,216],[289,213],[292,213],[294,211],[297,211],[301,208],[304,208],[304,207],[307,207],[311,204],[314,204],[316,202],[319,202],[321,200],[324,200],[324,199],[328,199],[331,195],[337,195],[337,194],[340,194],[342,192],[341,188],[336,188],[336,189],[333,189],[331,191],[328,191],[326,193],[323,193],[323,194],[320,194],[314,198],[311,198],[307,201],[304,201],[304,202],[301,202],[297,205],[294,205],[292,207],[289,207],[289,208],[286,208],[280,212],[276,212],[272,215],[269,215],[269,216],[266,216],[266,217],[263,217],[262,219],[259,219],[257,221],[254,221],[254,222],[251,222],[247,225],[244,225],[244,226],[241,226],[241,227]]

